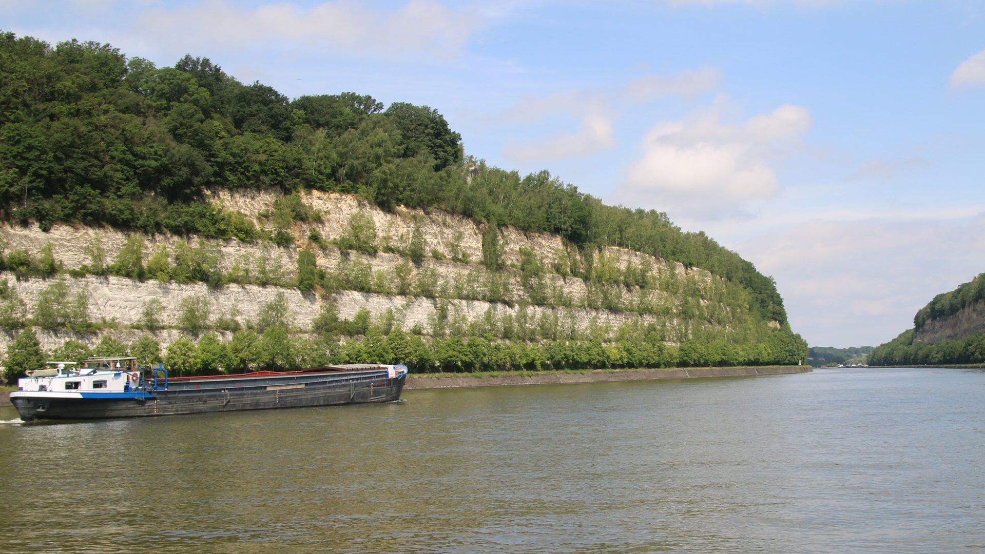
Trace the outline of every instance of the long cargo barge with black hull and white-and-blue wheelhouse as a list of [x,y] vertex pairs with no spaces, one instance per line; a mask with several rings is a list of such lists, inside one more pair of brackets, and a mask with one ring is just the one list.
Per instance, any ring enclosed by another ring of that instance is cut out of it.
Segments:
[[299,371],[168,377],[137,358],[49,362],[18,382],[10,401],[24,421],[178,415],[400,400],[407,366],[325,365]]

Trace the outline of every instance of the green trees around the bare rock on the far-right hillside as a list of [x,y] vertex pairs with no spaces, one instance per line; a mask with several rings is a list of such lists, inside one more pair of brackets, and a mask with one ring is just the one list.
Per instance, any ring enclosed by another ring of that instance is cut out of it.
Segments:
[[951,292],[938,294],[913,318],[913,329],[904,331],[869,354],[869,365],[941,365],[985,362],[985,334],[959,340],[928,344],[915,340],[916,334],[931,321],[946,318],[985,299],[985,274],[961,283]]

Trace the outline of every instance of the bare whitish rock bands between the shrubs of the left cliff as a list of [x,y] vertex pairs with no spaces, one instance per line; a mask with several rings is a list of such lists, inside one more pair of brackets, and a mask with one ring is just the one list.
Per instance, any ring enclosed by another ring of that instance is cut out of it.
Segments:
[[[269,226],[261,214],[270,211],[279,194],[271,192],[236,192],[224,191],[217,195],[216,201],[221,202],[227,210],[238,211],[254,219],[258,226]],[[466,277],[485,275],[486,269],[479,265],[482,260],[482,237],[484,229],[470,219],[459,215],[441,212],[425,214],[420,210],[398,208],[395,213],[385,213],[379,209],[365,205],[351,196],[334,193],[312,192],[301,196],[303,202],[318,211],[320,221],[310,223],[295,223],[292,231],[295,234],[295,244],[285,247],[276,246],[264,241],[245,243],[238,240],[209,240],[209,248],[217,256],[218,268],[229,272],[234,266],[249,269],[251,275],[257,275],[262,265],[269,274],[275,275],[282,281],[296,278],[298,248],[311,247],[316,254],[317,266],[325,270],[340,267],[344,253],[335,247],[315,246],[308,236],[312,229],[317,230],[322,238],[331,240],[345,234],[350,218],[356,214],[372,217],[376,226],[377,244],[381,247],[390,244],[395,250],[405,249],[415,226],[419,226],[425,237],[425,252],[439,256],[467,259],[472,263],[436,260],[428,257],[421,267],[412,268],[414,275],[424,271],[432,271],[437,277],[438,287],[450,287],[454,282],[461,282]],[[517,265],[520,262],[520,249],[526,248],[537,254],[544,266],[550,267],[558,257],[573,254],[565,248],[560,238],[543,233],[522,233],[512,228],[502,232],[504,259],[507,264]],[[37,256],[39,250],[50,244],[55,259],[66,270],[80,269],[92,264],[92,248],[98,243],[104,251],[105,264],[112,263],[123,248],[128,234],[110,228],[93,228],[81,225],[55,225],[49,231],[42,231],[34,225],[27,227],[3,226],[0,228],[0,242],[6,252],[25,249]],[[159,234],[145,236],[144,260],[155,252],[158,245],[164,244],[173,250],[178,241],[189,239]],[[198,244],[197,240],[189,240],[191,246]],[[692,277],[700,286],[709,286],[718,277],[699,269],[685,269],[678,263],[668,263],[659,258],[629,251],[623,248],[607,247],[600,256],[605,256],[620,269],[628,264],[635,267],[646,264],[652,268],[654,277],[665,276],[668,272],[676,277]],[[347,255],[348,260],[367,263],[371,271],[392,272],[398,265],[405,264],[407,258],[394,253],[381,252],[375,256],[367,256],[355,252]],[[521,286],[519,272],[510,270],[509,286],[515,301],[526,298],[526,292]],[[560,277],[546,275],[545,281],[549,288],[563,294],[574,305],[587,293],[585,282],[575,277]],[[38,294],[51,284],[51,280],[32,278],[18,281],[13,274],[0,274],[15,287],[18,295],[25,301],[28,313],[33,312]],[[162,282],[158,280],[138,281],[123,277],[56,277],[65,279],[70,294],[86,290],[90,298],[90,319],[100,324],[99,333],[78,336],[66,332],[39,332],[38,338],[42,347],[51,349],[61,344],[65,339],[79,339],[90,345],[95,345],[106,334],[117,336],[124,341],[139,336],[142,332],[134,329],[122,329],[141,323],[144,306],[153,298],[157,298],[164,306],[164,326],[174,326],[181,300],[188,296],[201,296],[209,300],[211,318],[234,318],[240,324],[246,324],[256,318],[257,312],[264,305],[276,300],[283,294],[288,300],[295,327],[298,330],[310,328],[311,321],[319,314],[322,299],[314,293],[301,294],[296,288],[281,286],[260,286],[254,284],[227,284],[217,289],[211,289],[204,283],[181,284]],[[457,280],[456,280],[457,279]],[[542,314],[558,315],[565,325],[584,329],[589,324],[611,325],[618,327],[624,322],[642,319],[645,322],[662,322],[668,326],[676,326],[679,322],[673,315],[673,308],[678,299],[668,297],[667,293],[659,290],[646,290],[637,295],[647,294],[653,303],[663,303],[668,306],[669,316],[651,314],[640,315],[633,312],[612,312],[586,308],[558,308],[551,306],[528,306],[528,318],[534,320]],[[446,304],[442,304],[446,303]],[[440,306],[446,306],[454,317],[465,317],[474,321],[483,317],[489,310],[496,314],[510,313],[516,315],[516,305],[490,303],[480,300],[440,300],[422,296],[401,296],[378,293],[356,292],[352,290],[339,291],[335,295],[337,313],[342,319],[351,319],[361,308],[367,309],[374,317],[390,310],[395,317],[395,324],[410,331],[415,327],[427,330],[431,318]],[[171,340],[177,339],[181,332],[164,330],[156,334],[156,338],[166,346]],[[14,333],[0,333],[0,350],[5,351],[12,342]],[[131,338],[133,336],[133,338]]]

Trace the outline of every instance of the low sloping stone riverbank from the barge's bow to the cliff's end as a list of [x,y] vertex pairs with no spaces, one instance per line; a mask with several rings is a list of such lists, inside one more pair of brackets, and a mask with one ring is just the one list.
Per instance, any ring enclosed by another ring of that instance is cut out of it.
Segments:
[[783,367],[696,367],[676,369],[615,369],[593,371],[525,371],[496,374],[426,373],[409,375],[404,389],[458,389],[503,385],[548,385],[558,383],[601,383],[606,381],[651,381],[655,379],[701,379],[708,377],[753,377],[810,373],[811,366]]

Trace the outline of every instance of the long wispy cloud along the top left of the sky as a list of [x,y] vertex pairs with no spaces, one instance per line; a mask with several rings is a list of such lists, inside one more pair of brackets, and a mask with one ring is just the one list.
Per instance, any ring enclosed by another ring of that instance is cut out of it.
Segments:
[[482,25],[480,17],[432,0],[410,0],[397,11],[345,0],[307,10],[286,3],[244,8],[228,0],[210,0],[173,10],[147,10],[134,31],[182,52],[307,45],[349,53],[427,52],[448,58],[462,54],[471,34]]

